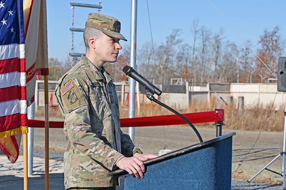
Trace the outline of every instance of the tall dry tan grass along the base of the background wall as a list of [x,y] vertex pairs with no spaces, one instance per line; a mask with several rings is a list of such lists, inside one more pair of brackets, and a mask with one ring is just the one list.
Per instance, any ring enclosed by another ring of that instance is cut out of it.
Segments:
[[[283,131],[284,130],[284,105],[280,107],[273,107],[271,113],[271,104],[253,104],[244,106],[244,109],[238,110],[237,102],[229,105],[217,102],[214,98],[207,101],[193,100],[187,109],[179,109],[172,107],[179,113],[196,113],[205,111],[214,111],[215,109],[224,109],[225,121],[223,128],[240,129],[240,130],[254,130],[261,129],[263,123],[263,131]],[[140,105],[140,113],[136,105],[135,117],[150,117],[160,115],[172,115],[168,109],[150,102],[148,104]],[[38,107],[35,111],[35,116],[44,117],[45,111],[43,107]],[[269,115],[269,117],[268,117]],[[49,117],[62,118],[59,109],[50,109]],[[120,118],[128,118],[128,106],[120,106]],[[212,127],[212,123],[197,123],[195,126]]]

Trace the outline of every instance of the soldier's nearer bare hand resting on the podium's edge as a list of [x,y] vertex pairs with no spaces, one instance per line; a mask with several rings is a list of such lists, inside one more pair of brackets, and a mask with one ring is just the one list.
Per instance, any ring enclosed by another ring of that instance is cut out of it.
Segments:
[[116,166],[140,179],[140,177],[144,178],[145,166],[143,162],[146,160],[148,160],[148,158],[137,156],[132,156],[130,158],[123,157],[116,163]]

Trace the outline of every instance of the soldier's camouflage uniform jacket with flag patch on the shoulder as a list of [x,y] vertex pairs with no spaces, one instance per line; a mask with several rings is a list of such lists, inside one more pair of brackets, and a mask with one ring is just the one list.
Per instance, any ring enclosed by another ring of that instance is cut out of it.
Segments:
[[[102,71],[101,71],[102,70]],[[64,119],[65,188],[112,187],[107,177],[116,162],[132,156],[136,146],[120,130],[118,98],[113,77],[82,55],[56,85],[55,95]]]

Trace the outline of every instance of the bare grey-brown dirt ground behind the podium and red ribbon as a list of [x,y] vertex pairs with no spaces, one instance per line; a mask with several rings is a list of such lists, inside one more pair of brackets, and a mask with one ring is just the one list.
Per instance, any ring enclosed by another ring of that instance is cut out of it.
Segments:
[[[35,118],[36,119],[36,118]],[[52,120],[52,119],[50,119]],[[210,123],[210,128],[196,127],[203,140],[215,138],[216,128]],[[124,133],[128,133],[128,128],[122,128]],[[243,130],[222,130],[223,134],[236,132],[233,136],[233,164],[232,178],[247,180],[255,173],[268,164],[283,150],[283,132],[261,132],[257,143],[251,150],[249,150],[255,143],[259,132],[243,131]],[[63,129],[50,129],[49,132],[49,146],[51,151],[63,152],[65,149],[65,136]],[[44,149],[44,129],[35,128],[34,147]],[[135,128],[135,144],[144,153],[158,154],[161,149],[167,148],[171,150],[178,150],[186,146],[198,143],[198,137],[189,126],[156,126],[156,127],[136,127]],[[247,157],[245,158],[247,154]],[[242,160],[244,162],[241,164]],[[240,165],[241,164],[241,165]],[[282,172],[282,156],[280,156],[269,167],[278,173]],[[283,178],[281,175],[263,170],[252,181],[263,182],[267,184],[281,184]]]

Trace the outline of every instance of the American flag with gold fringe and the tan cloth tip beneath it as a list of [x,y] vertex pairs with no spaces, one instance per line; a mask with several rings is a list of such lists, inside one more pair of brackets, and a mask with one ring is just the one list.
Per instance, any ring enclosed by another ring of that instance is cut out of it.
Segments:
[[14,163],[27,133],[23,0],[0,0],[0,150]]

